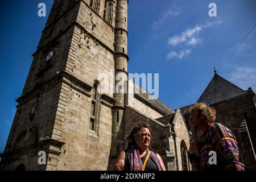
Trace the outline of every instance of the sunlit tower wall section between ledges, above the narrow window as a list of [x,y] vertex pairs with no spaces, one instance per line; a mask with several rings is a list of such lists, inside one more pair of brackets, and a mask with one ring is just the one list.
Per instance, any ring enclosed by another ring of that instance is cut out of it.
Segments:
[[[75,27],[71,43],[66,71],[77,79],[93,86],[94,80],[102,81],[104,78],[111,83],[114,80],[114,57],[113,52],[103,44],[97,42],[89,34],[82,32],[82,28]],[[113,97],[112,90],[106,90],[105,94]]]

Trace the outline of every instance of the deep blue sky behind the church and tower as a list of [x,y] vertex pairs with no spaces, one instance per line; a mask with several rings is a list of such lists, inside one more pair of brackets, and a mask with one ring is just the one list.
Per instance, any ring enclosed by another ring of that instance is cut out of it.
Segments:
[[[37,15],[40,2],[48,15],[52,0],[0,2],[0,152],[46,24]],[[217,17],[208,15],[211,2]],[[256,90],[256,28],[225,62],[256,24],[255,8],[254,0],[131,0],[129,73],[159,73],[159,99],[174,109],[197,101],[213,67],[242,89]]]

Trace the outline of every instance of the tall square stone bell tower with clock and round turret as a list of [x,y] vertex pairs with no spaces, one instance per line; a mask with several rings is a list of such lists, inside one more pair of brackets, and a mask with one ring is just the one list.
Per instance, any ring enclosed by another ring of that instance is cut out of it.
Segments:
[[125,94],[100,92],[98,78],[125,82],[127,61],[127,0],[55,0],[0,170],[109,169],[124,147]]

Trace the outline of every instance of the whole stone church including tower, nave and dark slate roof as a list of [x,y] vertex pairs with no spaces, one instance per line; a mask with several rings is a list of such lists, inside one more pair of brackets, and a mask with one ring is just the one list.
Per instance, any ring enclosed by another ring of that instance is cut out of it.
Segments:
[[[189,106],[173,110],[147,92],[102,93],[127,78],[128,0],[55,0],[27,76],[0,170],[110,170],[138,122],[151,126],[151,150],[168,170],[191,170]],[[114,74],[113,71],[114,70]],[[118,78],[117,78],[118,77]],[[217,92],[216,92],[217,91]],[[255,169],[255,93],[214,75],[199,101],[234,130],[247,169]],[[39,164],[39,152],[46,163]]]

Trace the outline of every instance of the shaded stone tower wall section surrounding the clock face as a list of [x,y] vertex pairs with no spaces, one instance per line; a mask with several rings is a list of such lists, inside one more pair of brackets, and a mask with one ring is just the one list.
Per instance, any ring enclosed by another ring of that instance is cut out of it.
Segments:
[[[26,84],[22,96],[30,92],[36,84],[48,80],[56,72],[63,71],[67,63],[69,47],[71,44],[74,25],[79,11],[79,4],[61,16],[54,24],[49,24],[43,30],[39,46],[34,53],[30,71],[27,76]],[[46,57],[53,51],[53,57],[48,66]]]

